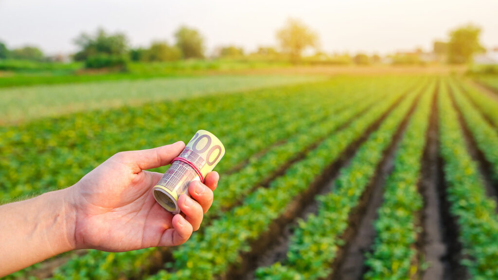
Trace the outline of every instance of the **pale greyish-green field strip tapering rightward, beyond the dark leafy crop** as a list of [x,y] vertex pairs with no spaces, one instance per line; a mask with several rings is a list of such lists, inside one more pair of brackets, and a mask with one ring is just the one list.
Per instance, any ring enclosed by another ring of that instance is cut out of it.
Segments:
[[199,95],[325,80],[324,76],[205,76],[0,89],[0,124]]

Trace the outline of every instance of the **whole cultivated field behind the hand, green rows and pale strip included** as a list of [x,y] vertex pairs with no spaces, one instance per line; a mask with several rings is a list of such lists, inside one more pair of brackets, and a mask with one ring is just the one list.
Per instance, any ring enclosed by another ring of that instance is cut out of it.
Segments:
[[185,244],[79,250],[6,279],[498,279],[491,90],[436,74],[168,79],[0,89],[3,203],[198,129],[226,147]]

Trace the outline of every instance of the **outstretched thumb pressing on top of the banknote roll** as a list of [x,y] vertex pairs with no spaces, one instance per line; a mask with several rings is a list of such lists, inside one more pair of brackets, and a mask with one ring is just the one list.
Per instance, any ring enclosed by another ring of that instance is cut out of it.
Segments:
[[165,166],[185,148],[183,141],[153,149],[123,152],[122,161],[132,167],[134,173]]

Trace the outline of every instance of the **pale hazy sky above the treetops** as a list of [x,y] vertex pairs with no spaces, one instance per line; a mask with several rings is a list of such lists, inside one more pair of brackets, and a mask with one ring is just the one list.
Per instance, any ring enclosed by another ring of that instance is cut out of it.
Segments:
[[276,46],[289,17],[315,30],[321,50],[387,54],[416,47],[469,22],[483,28],[485,47],[498,47],[497,0],[0,0],[0,40],[47,54],[74,52],[74,38],[98,27],[124,32],[133,47],[173,42],[180,25],[197,28],[208,53],[235,44],[252,51]]

